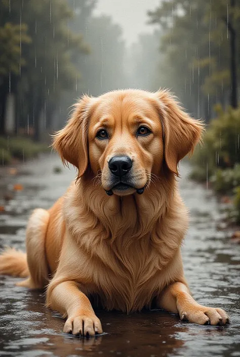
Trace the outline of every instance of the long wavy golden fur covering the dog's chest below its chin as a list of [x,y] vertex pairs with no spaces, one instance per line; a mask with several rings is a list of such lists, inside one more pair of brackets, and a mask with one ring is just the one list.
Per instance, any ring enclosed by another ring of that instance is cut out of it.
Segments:
[[172,279],[166,269],[187,228],[186,210],[178,196],[172,207],[165,206],[159,193],[137,203],[128,198],[121,214],[114,202],[97,200],[97,206],[95,196],[92,201],[89,196],[91,209],[86,210],[75,197],[66,205],[65,219],[81,256],[78,271],[84,292],[99,296],[109,310],[149,306]]

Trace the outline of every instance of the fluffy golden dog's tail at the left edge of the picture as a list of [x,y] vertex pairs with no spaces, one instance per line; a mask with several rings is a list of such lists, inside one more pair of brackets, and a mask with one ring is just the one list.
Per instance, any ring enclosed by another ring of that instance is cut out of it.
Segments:
[[26,253],[13,248],[6,249],[0,255],[0,274],[18,277],[29,276]]

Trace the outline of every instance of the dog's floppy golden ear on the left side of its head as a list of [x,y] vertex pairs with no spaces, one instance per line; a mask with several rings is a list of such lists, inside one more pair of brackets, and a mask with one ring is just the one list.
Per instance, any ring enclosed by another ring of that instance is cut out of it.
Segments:
[[88,121],[93,98],[83,96],[75,105],[67,125],[54,135],[53,148],[64,165],[67,162],[78,169],[78,177],[88,168]]

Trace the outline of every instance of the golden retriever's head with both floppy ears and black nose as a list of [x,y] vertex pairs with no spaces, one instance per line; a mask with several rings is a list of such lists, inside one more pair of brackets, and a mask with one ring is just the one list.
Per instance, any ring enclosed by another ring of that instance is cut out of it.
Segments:
[[78,177],[89,168],[109,195],[123,196],[143,193],[163,165],[178,175],[179,161],[193,151],[202,129],[167,91],[114,91],[84,96],[53,147]]

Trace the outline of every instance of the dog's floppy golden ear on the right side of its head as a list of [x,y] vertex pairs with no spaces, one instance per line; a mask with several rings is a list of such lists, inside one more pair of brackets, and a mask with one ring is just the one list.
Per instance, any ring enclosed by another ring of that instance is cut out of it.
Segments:
[[170,92],[161,90],[155,94],[163,124],[165,161],[178,176],[178,163],[187,153],[193,153],[201,141],[204,124],[185,113]]

